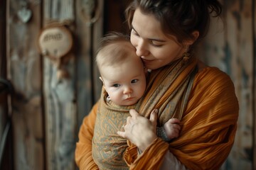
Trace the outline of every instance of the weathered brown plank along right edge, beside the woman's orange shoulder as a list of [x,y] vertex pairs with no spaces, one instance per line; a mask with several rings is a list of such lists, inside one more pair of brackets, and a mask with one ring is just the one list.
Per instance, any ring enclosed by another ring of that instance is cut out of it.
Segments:
[[252,1],[233,1],[226,4],[226,54],[236,94],[240,116],[235,144],[230,153],[230,169],[252,169],[253,113],[252,106]]

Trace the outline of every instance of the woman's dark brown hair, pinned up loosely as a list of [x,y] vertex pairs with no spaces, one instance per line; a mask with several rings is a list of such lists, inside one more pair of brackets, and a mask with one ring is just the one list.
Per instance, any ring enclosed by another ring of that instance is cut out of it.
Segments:
[[134,11],[152,14],[161,23],[163,33],[175,35],[178,42],[193,40],[198,30],[198,40],[208,32],[210,16],[220,16],[222,6],[217,0],[134,0],[126,9],[129,29]]

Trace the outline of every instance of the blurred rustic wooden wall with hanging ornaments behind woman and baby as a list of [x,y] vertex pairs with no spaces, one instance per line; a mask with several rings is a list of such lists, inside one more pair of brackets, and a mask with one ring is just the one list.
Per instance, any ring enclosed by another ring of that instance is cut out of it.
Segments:
[[[97,42],[127,33],[130,1],[0,1],[0,169],[77,169],[78,130],[102,86]],[[240,103],[222,169],[256,169],[256,1],[222,4],[223,18],[211,21],[198,53],[230,75]]]

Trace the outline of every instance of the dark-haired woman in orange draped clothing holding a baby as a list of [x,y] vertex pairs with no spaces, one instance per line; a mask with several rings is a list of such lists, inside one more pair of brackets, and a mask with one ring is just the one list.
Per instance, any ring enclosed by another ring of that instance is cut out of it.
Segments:
[[[193,51],[212,13],[220,16],[218,1],[134,0],[127,8],[132,45],[152,70],[146,95],[118,132],[128,140],[123,157],[129,169],[219,169],[228,157],[239,110],[233,82]],[[80,128],[75,153],[80,169],[97,169],[91,156],[97,106]],[[182,128],[167,143],[155,131],[169,118],[181,120]]]

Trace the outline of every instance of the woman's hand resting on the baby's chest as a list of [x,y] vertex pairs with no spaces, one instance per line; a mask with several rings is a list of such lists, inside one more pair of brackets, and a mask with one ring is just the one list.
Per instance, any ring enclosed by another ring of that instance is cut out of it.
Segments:
[[156,139],[156,120],[157,109],[151,112],[150,118],[144,118],[134,109],[130,110],[131,116],[127,118],[127,124],[124,125],[124,132],[118,131],[117,134],[126,138],[136,145],[139,150],[144,150]]

